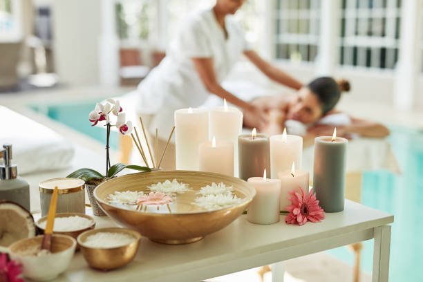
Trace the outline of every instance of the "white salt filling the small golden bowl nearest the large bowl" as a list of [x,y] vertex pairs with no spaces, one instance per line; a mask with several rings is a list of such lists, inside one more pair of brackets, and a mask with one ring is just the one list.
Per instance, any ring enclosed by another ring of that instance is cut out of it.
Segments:
[[98,232],[86,237],[84,245],[87,247],[99,247],[107,249],[110,247],[122,247],[134,242],[136,238],[129,234],[119,232]]

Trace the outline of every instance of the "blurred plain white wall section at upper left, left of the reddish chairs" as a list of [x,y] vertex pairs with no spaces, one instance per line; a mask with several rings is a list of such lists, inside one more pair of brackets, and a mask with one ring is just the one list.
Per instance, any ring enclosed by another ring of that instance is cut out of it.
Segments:
[[101,0],[53,1],[55,68],[60,82],[97,84]]

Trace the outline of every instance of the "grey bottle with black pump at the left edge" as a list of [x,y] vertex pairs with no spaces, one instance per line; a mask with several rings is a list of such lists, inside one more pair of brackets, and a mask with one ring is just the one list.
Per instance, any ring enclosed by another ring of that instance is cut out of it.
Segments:
[[17,176],[17,166],[12,164],[12,144],[0,149],[0,200],[9,200],[30,211],[28,182]]

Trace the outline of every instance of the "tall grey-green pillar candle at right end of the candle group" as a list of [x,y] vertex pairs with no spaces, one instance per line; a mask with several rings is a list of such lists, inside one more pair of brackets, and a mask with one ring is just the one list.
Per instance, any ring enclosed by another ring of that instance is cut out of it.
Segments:
[[313,190],[325,212],[344,210],[347,144],[336,136],[314,139]]

